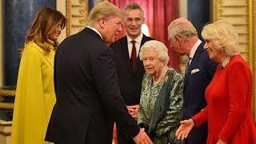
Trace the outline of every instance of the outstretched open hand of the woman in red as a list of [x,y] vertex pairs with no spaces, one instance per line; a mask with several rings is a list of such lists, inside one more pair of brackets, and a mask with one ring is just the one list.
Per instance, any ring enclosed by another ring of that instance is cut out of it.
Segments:
[[194,121],[192,118],[181,121],[180,122],[181,126],[178,127],[178,130],[176,130],[176,137],[178,139],[184,139],[190,134],[190,131],[194,127]]

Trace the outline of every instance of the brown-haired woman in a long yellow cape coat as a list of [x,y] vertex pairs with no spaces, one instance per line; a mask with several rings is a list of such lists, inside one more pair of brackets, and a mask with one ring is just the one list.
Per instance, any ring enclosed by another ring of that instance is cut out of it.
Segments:
[[42,8],[26,34],[18,70],[11,144],[46,144],[44,141],[55,103],[54,54],[66,18]]

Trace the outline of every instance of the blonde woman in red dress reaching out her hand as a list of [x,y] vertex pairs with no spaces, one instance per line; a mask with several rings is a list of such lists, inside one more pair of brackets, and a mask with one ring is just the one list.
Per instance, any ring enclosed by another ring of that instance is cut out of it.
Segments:
[[218,62],[214,78],[206,88],[207,106],[184,120],[176,131],[184,139],[193,126],[208,122],[207,143],[256,144],[252,112],[253,77],[238,53],[238,33],[229,22],[219,20],[202,30],[209,57]]

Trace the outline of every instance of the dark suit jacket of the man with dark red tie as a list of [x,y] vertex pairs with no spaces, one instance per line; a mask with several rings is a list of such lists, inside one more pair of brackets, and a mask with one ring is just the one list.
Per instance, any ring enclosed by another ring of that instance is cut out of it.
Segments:
[[[143,34],[141,46],[150,40],[153,40],[153,38]],[[142,78],[143,74],[145,74],[143,63],[138,56],[133,74],[130,69],[127,37],[119,39],[117,42],[111,44],[110,47],[114,50],[114,58],[118,70],[118,83],[122,98],[124,98],[127,106],[138,105],[142,90]]]

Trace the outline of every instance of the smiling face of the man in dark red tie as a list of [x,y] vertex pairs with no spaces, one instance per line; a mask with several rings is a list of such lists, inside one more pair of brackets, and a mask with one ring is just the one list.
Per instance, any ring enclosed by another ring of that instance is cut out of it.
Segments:
[[139,9],[126,10],[125,25],[126,31],[130,38],[137,38],[142,33],[142,24],[144,23],[142,11]]

